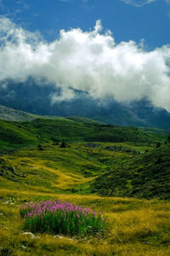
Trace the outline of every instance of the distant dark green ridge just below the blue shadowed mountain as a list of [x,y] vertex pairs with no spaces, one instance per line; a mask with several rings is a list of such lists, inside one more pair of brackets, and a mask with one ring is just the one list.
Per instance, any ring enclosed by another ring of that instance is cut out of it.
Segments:
[[156,143],[158,140],[159,136],[147,134],[138,128],[105,125],[85,118],[0,121],[0,145],[3,148],[62,141]]

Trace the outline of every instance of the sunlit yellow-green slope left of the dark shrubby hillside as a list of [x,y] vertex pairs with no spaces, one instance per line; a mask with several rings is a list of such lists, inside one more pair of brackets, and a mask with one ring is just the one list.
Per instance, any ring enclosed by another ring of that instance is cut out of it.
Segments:
[[42,148],[42,151],[34,147],[10,156],[3,155],[0,158],[0,186],[69,193],[79,183],[88,182],[89,177],[102,171],[102,166],[81,149],[83,145],[59,148],[47,144]]

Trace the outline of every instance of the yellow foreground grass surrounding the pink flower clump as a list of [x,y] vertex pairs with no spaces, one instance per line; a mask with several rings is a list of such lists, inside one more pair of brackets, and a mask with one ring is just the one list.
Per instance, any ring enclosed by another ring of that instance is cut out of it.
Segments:
[[[170,204],[167,202],[97,195],[57,195],[16,189],[2,189],[0,196],[0,247],[8,248],[12,255],[170,255]],[[71,201],[95,211],[102,210],[109,217],[107,235],[102,239],[48,234],[36,234],[31,239],[31,236],[23,235],[20,202],[36,201],[38,196]],[[164,244],[158,243],[159,236]]]

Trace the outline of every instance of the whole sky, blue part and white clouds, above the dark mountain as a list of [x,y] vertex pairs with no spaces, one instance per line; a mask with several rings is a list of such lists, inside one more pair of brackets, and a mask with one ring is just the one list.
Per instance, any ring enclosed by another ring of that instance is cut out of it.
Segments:
[[[29,76],[170,111],[169,0],[0,0],[0,80]],[[5,86],[5,83],[1,84]]]

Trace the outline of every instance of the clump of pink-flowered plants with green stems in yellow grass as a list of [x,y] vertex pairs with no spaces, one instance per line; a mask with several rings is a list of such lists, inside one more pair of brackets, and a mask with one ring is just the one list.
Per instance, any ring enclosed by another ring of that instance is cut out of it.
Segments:
[[102,212],[72,205],[70,202],[41,201],[20,206],[24,229],[70,236],[103,234],[107,218]]

